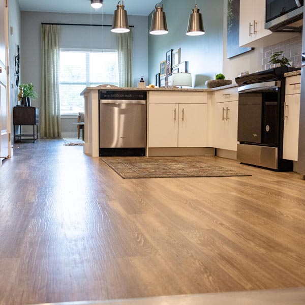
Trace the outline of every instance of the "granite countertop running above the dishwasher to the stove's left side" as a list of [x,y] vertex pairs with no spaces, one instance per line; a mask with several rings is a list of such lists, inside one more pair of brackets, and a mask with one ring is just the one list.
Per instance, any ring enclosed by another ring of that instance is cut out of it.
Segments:
[[228,89],[237,87],[237,84],[231,84],[221,87],[216,87],[212,89],[207,88],[130,88],[130,87],[86,87],[82,90],[80,95],[90,92],[90,90],[140,90],[140,91],[170,91],[170,92],[214,92],[217,90]]

